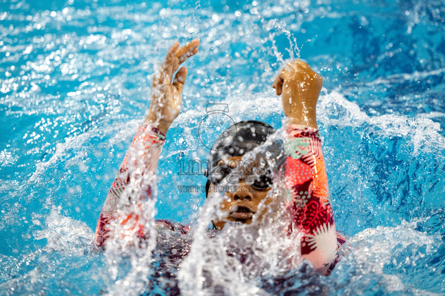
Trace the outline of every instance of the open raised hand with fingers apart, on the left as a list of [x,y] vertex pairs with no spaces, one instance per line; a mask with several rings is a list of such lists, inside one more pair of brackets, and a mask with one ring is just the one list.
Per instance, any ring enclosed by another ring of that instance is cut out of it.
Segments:
[[[168,51],[161,68],[153,76],[150,111],[145,122],[157,127],[164,134],[167,133],[170,124],[181,111],[182,87],[186,82],[187,68],[181,67],[178,70],[178,67],[198,52],[199,44],[199,40],[194,39],[186,46],[179,47],[179,42],[176,41]],[[176,70],[178,70],[178,73],[173,79]]]

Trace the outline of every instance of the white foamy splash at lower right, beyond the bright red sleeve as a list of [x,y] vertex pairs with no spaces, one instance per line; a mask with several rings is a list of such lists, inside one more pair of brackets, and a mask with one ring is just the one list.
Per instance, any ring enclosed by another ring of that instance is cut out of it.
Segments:
[[[378,285],[384,292],[414,290],[411,282],[402,281],[400,275],[388,273],[384,268],[387,264],[395,264],[396,269],[402,269],[407,262],[415,266],[415,261],[437,252],[437,237],[414,230],[415,225],[416,222],[402,221],[402,225],[396,227],[365,229],[349,238],[342,247],[340,262],[333,274],[337,283],[351,287],[351,283],[369,281],[374,275],[382,278]],[[400,262],[392,258],[396,247],[406,249],[409,246],[415,250],[410,257],[403,257]],[[349,288],[345,294],[352,295],[355,292],[356,288]],[[415,295],[436,294],[417,289]]]

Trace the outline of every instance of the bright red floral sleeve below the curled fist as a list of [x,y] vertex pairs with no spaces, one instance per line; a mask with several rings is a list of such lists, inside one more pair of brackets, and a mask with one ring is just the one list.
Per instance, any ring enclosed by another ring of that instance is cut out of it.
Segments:
[[338,247],[320,133],[308,126],[288,126],[284,149],[287,158],[279,175],[285,184],[291,231],[303,233],[302,257],[324,273]]

